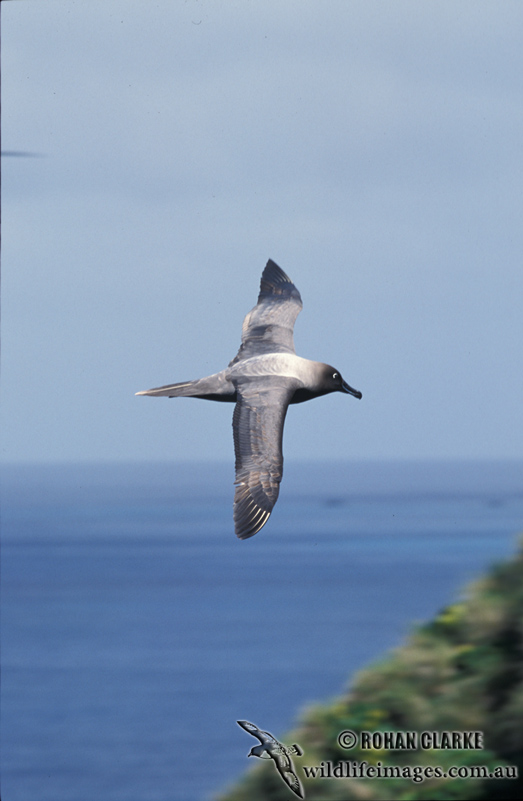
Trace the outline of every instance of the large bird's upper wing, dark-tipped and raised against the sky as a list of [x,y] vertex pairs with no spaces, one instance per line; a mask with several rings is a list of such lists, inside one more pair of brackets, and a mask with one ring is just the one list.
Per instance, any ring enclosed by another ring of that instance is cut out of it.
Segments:
[[263,353],[295,353],[294,323],[302,309],[291,279],[271,259],[262,273],[258,303],[243,321],[242,344],[230,362]]

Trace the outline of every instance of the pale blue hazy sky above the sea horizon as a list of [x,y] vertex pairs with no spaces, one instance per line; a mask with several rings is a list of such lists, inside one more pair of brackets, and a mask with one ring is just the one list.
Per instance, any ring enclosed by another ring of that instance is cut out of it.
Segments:
[[269,257],[299,355],[290,459],[521,458],[519,2],[2,3],[2,444],[232,458],[222,369]]

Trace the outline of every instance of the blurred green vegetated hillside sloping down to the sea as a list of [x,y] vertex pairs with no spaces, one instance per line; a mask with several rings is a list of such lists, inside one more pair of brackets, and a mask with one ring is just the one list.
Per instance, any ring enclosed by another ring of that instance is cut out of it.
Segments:
[[[362,731],[416,732],[418,740],[422,732],[483,732],[484,747],[422,749],[418,743],[416,750],[372,750],[358,744],[346,750],[338,743],[346,730],[360,740]],[[304,751],[292,759],[308,801],[523,798],[523,551],[492,568],[462,602],[417,628],[405,645],[357,674],[346,695],[306,710],[299,728],[279,739]],[[255,761],[220,801],[296,798],[272,759]],[[322,778],[321,772],[307,778],[304,772],[304,766],[323,762],[325,776],[328,762],[340,773],[347,769],[341,762],[363,761],[375,769],[392,766],[408,778]],[[462,775],[486,766],[505,778],[420,781],[414,766],[428,767],[428,774],[431,768],[446,773],[457,767]],[[506,778],[515,774],[520,778]]]

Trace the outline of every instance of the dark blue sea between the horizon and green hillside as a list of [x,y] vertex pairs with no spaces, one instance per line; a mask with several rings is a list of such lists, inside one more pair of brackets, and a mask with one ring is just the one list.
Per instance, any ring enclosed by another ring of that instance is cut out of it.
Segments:
[[523,463],[286,464],[239,541],[232,465],[2,472],[2,798],[200,801],[455,601],[523,530]]

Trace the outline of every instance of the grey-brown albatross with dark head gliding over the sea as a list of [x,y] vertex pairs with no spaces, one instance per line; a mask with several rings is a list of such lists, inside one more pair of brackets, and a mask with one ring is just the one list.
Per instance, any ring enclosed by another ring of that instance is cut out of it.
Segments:
[[240,350],[220,373],[137,395],[190,397],[236,404],[234,525],[240,539],[256,534],[278,498],[283,473],[283,424],[290,403],[346,392],[361,398],[334,367],[296,356],[293,329],[300,293],[269,259],[258,303],[243,321]]

